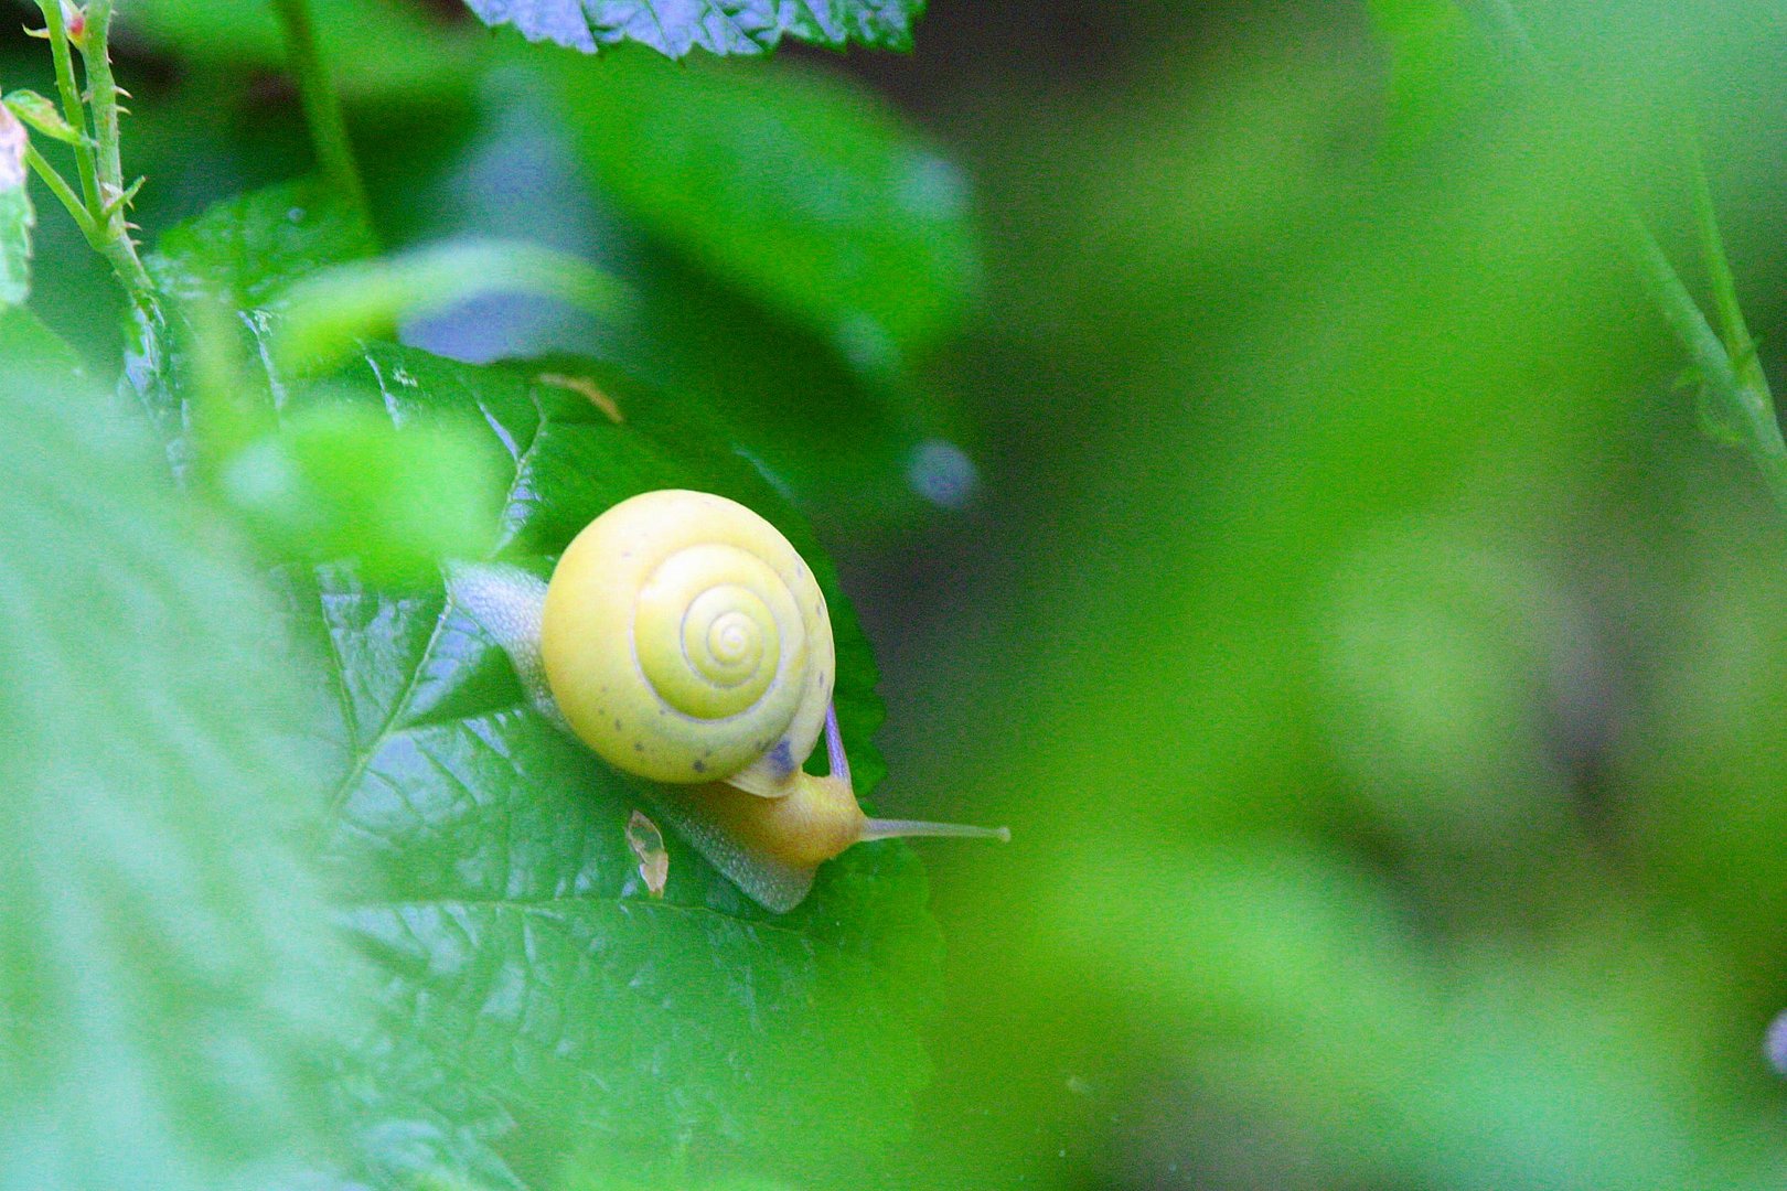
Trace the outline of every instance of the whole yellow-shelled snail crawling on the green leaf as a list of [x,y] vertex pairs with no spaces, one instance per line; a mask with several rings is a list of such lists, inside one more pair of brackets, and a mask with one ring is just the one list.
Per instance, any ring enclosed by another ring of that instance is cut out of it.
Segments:
[[[633,496],[577,534],[550,582],[452,564],[449,593],[533,705],[645,779],[672,827],[765,909],[799,905],[815,870],[856,843],[1010,839],[863,814],[831,700],[826,596],[788,539],[726,496]],[[826,777],[802,770],[820,736]]]

